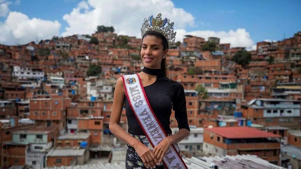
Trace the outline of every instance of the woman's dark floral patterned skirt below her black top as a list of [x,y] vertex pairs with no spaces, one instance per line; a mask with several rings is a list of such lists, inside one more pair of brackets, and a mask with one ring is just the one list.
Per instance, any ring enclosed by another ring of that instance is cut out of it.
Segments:
[[[130,133],[129,133],[130,134]],[[151,144],[149,144],[148,138],[146,136],[136,136],[130,134],[132,137],[139,140],[141,143],[143,143],[145,146],[149,147],[150,149],[153,149],[151,147]],[[179,151],[179,147],[175,146],[176,149]],[[142,159],[138,156],[137,152],[135,151],[134,147],[127,145],[126,149],[126,169],[147,169]],[[156,169],[166,169],[163,163],[161,163],[159,166],[156,165]]]

